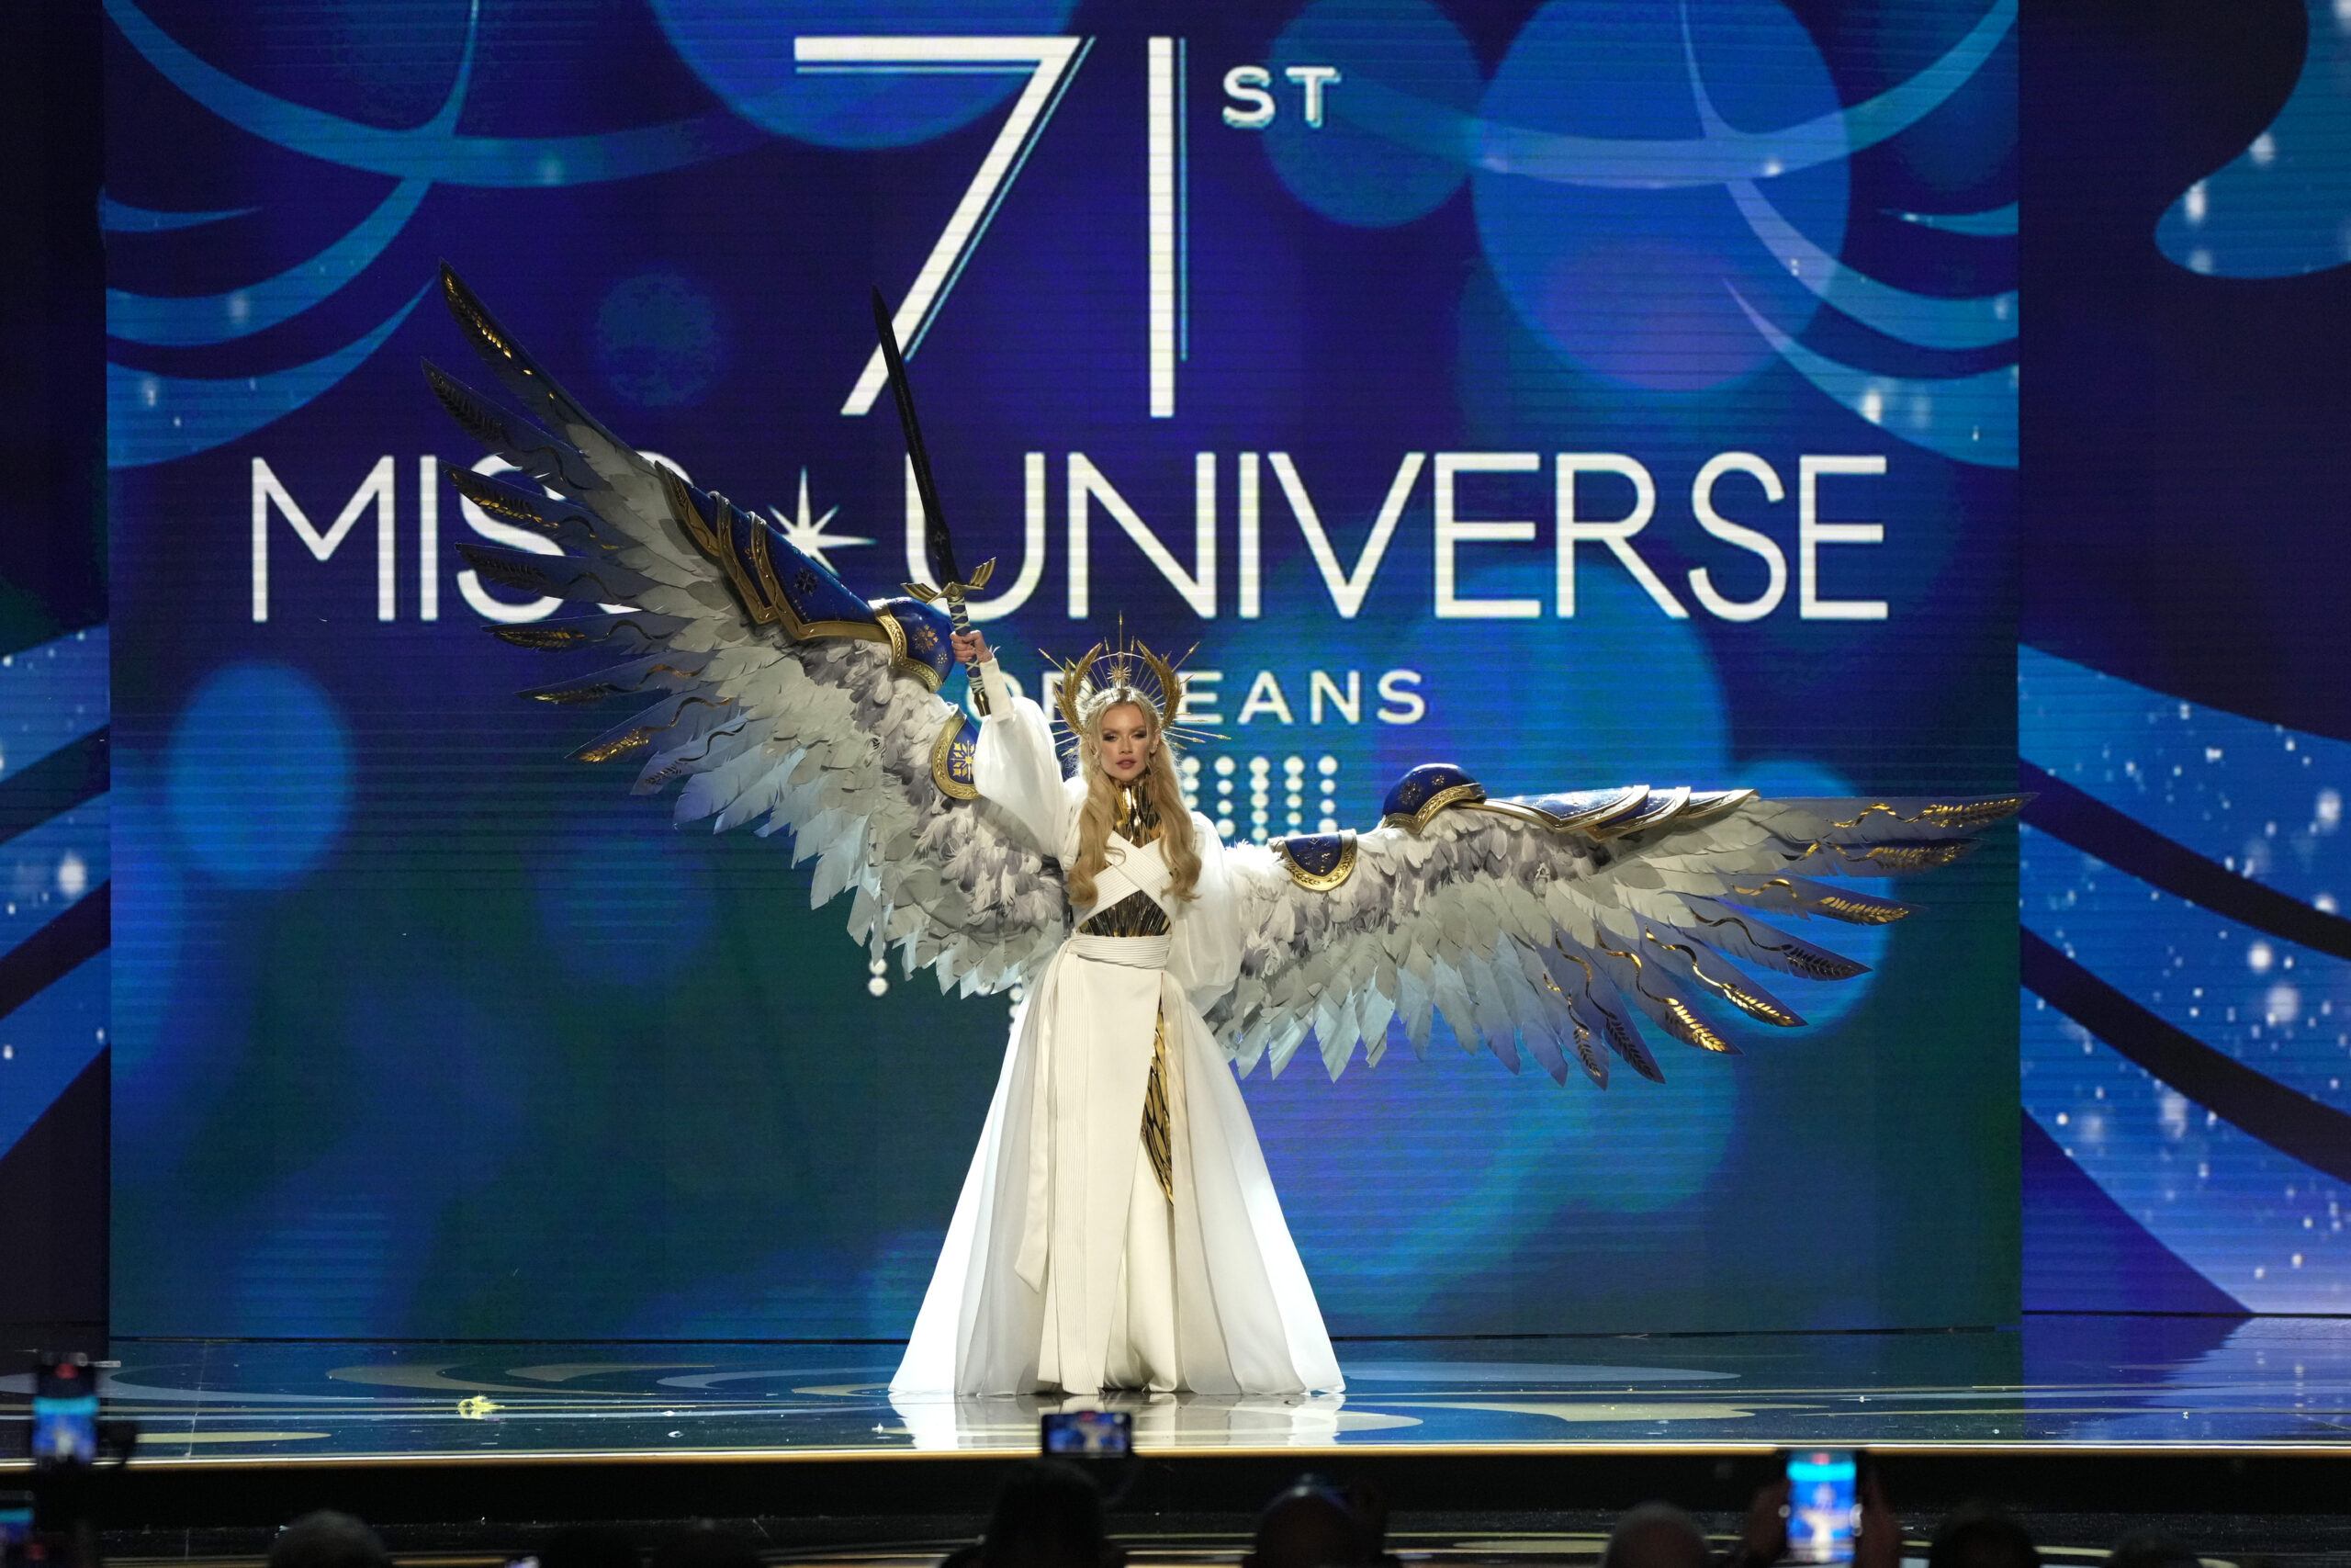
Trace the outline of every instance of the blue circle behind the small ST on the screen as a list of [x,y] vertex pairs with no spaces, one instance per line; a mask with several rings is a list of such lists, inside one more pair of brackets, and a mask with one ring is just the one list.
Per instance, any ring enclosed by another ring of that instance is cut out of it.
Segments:
[[[1444,207],[1469,176],[1462,146],[1483,78],[1469,40],[1427,0],[1314,0],[1272,47],[1279,106],[1265,155],[1300,202],[1385,228]],[[1288,66],[1333,66],[1310,125]]]

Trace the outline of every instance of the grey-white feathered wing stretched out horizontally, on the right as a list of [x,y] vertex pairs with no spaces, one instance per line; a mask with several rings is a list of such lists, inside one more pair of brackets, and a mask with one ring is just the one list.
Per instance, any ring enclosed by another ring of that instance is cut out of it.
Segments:
[[1714,1023],[1726,1006],[1803,1023],[1737,964],[1864,973],[1766,914],[1902,919],[1911,905],[1836,879],[1947,865],[2022,806],[1641,785],[1488,802],[1458,769],[1415,773],[1436,776],[1418,790],[1420,813],[1408,773],[1406,809],[1392,792],[1373,832],[1234,851],[1241,980],[1211,1025],[1244,1072],[1262,1056],[1279,1072],[1312,1034],[1338,1077],[1359,1041],[1378,1063],[1392,1018],[1425,1051],[1444,1013],[1512,1072],[1523,1044],[1561,1084],[1573,1058],[1606,1086],[1608,1053],[1660,1079],[1636,1013],[1690,1046],[1735,1051]]

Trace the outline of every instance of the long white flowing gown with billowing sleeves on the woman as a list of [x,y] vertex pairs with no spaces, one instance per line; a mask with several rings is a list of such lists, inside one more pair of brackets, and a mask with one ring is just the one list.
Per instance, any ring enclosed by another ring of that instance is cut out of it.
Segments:
[[[980,665],[973,780],[1063,865],[1081,778],[1044,712]],[[1084,924],[1131,893],[1166,936],[1072,936],[1013,1011],[1004,1072],[891,1394],[1199,1394],[1340,1389],[1314,1288],[1258,1133],[1201,1011],[1241,961],[1225,846],[1192,816],[1197,896],[1168,898],[1159,842],[1110,839]],[[1154,1030],[1166,1027],[1173,1199],[1143,1145]]]

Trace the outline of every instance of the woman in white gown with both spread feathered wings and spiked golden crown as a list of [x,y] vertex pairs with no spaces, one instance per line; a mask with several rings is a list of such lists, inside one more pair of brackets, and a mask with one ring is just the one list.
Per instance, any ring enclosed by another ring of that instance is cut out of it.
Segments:
[[[1176,783],[1166,663],[1070,672],[1063,778],[1044,715],[1006,693],[980,637],[950,651],[936,595],[856,595],[785,529],[597,423],[447,268],[442,294],[529,411],[426,367],[520,470],[451,480],[557,555],[456,548],[489,583],[585,607],[494,630],[623,656],[538,701],[651,701],[571,755],[642,759],[635,790],[677,785],[679,823],[788,832],[795,865],[816,858],[811,903],[853,893],[849,933],[872,959],[896,947],[966,994],[1027,985],[893,1394],[1335,1392],[1234,1067],[1281,1072],[1312,1041],[1335,1079],[1357,1048],[1375,1065],[1392,1025],[1427,1051],[1441,1018],[1512,1072],[1523,1051],[1559,1084],[1582,1067],[1606,1086],[1610,1056],[1657,1079],[1641,1020],[1709,1053],[1733,1048],[1716,1006],[1803,1023],[1740,964],[1864,971],[1773,917],[1902,919],[1911,905],[1848,879],[1947,865],[2024,804],[1688,785],[1491,799],[1425,762],[1378,827],[1227,856]],[[978,736],[938,696],[955,658],[978,663]]]

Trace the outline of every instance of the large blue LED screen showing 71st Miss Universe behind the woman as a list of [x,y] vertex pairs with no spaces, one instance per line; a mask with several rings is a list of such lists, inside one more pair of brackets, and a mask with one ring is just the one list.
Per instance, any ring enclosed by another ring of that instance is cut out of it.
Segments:
[[[118,1331],[903,1335],[994,1081],[515,701],[437,259],[872,597],[879,282],[1009,672],[1197,642],[1227,835],[2012,788],[2008,0],[108,19]],[[2012,1319],[2012,844],[1662,1086],[1260,1070],[1333,1331]]]

